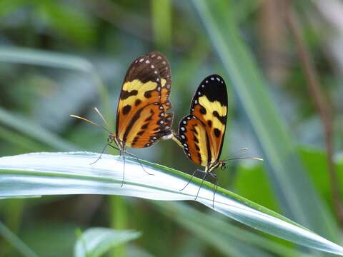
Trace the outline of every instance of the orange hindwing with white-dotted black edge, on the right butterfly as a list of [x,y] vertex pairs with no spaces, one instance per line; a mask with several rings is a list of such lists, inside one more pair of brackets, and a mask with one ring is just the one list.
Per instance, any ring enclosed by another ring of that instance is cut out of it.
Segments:
[[182,144],[184,153],[194,163],[207,166],[211,160],[209,136],[202,121],[196,116],[185,116],[179,124],[179,143]]

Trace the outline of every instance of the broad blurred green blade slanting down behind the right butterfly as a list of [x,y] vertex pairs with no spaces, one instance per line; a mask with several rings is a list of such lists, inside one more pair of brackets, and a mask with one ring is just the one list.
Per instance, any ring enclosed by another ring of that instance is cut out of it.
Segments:
[[283,211],[317,233],[338,240],[337,223],[309,180],[296,144],[241,39],[231,1],[194,0],[193,3],[264,151],[269,178]]

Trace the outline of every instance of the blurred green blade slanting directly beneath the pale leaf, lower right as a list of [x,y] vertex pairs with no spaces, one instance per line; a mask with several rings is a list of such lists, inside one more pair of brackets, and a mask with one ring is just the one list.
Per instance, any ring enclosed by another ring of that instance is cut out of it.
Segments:
[[[274,253],[276,256],[307,256],[304,253],[295,251],[292,248],[283,246],[267,238],[244,230],[239,226],[222,221],[219,217],[211,213],[202,213],[194,208],[182,203],[156,203],[166,216],[172,218],[180,224],[182,228],[192,232],[197,238],[214,246],[218,251],[229,256],[245,256],[247,248],[252,248],[254,253],[262,252],[264,254]],[[239,245],[238,245],[239,243]],[[262,249],[265,251],[263,252]],[[248,255],[255,256],[255,255]]]

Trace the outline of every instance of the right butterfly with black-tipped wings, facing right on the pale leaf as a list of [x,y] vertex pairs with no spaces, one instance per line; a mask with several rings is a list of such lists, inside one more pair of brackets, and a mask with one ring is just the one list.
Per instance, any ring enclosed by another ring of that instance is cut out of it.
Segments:
[[200,83],[192,99],[190,114],[180,121],[179,131],[174,133],[172,138],[183,148],[187,158],[204,167],[204,171],[196,169],[184,186],[184,188],[187,187],[197,171],[204,173],[196,199],[207,175],[213,176],[216,180],[215,195],[218,179],[217,174],[213,171],[216,168],[226,168],[226,162],[229,159],[219,159],[222,153],[226,124],[227,86],[221,76],[213,74],[207,76]]

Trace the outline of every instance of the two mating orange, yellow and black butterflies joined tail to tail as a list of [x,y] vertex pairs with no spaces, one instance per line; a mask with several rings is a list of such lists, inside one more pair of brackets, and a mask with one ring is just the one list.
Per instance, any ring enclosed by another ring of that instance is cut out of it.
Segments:
[[[171,87],[171,69],[163,54],[153,51],[135,59],[121,86],[116,132],[109,133],[109,146],[117,148],[125,161],[125,153],[129,154],[126,148],[146,148],[160,140],[172,138],[183,148],[187,158],[205,168],[202,182],[207,174],[214,176],[217,181],[212,171],[214,168],[225,168],[225,161],[219,160],[227,123],[225,82],[219,75],[207,76],[202,81],[193,97],[190,114],[180,121],[178,133],[171,129]],[[104,120],[102,116],[101,118]],[[121,186],[124,183],[124,174]],[[201,186],[199,190],[200,188]]]

